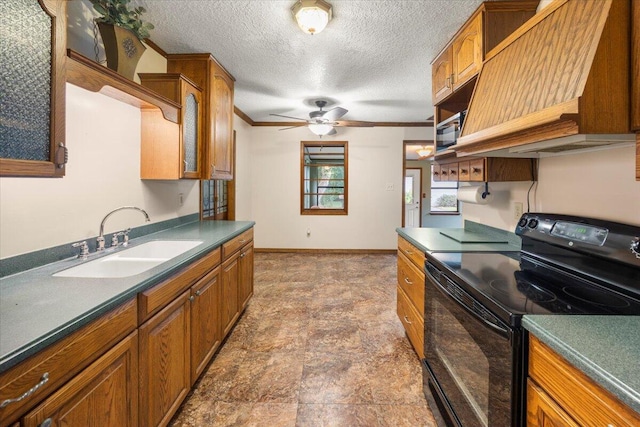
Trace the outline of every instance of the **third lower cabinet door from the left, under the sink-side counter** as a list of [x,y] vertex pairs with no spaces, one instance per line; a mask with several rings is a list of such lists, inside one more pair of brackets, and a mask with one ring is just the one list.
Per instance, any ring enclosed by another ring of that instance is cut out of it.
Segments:
[[191,288],[191,384],[220,345],[220,268]]

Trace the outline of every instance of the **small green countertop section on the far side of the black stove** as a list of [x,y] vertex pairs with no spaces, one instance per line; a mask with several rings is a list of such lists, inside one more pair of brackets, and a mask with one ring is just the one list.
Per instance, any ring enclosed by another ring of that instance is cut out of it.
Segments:
[[[520,236],[498,228],[489,227],[466,220],[464,228],[397,228],[400,236],[411,242],[424,252],[496,252],[520,251]],[[460,243],[445,234],[460,234],[465,232],[471,236],[482,236],[484,243]],[[507,243],[492,243],[491,241],[506,241]]]

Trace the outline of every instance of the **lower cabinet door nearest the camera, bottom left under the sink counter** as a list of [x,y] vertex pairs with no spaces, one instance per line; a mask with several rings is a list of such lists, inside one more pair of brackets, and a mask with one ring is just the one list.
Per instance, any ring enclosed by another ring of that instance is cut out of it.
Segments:
[[138,332],[29,412],[24,427],[138,425]]

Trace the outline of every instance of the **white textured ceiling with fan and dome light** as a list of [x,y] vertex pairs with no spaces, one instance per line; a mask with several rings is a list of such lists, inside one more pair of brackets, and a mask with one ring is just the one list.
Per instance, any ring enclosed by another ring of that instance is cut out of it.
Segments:
[[431,61],[480,0],[333,0],[310,36],[294,0],[133,0],[168,53],[211,52],[235,77],[235,105],[254,121],[307,118],[316,99],[344,120],[423,122],[433,114]]

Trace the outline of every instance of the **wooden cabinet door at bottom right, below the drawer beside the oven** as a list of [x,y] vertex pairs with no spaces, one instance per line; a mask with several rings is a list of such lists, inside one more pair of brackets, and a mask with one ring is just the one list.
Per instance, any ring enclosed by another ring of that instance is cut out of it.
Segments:
[[527,427],[578,427],[556,402],[527,380]]

